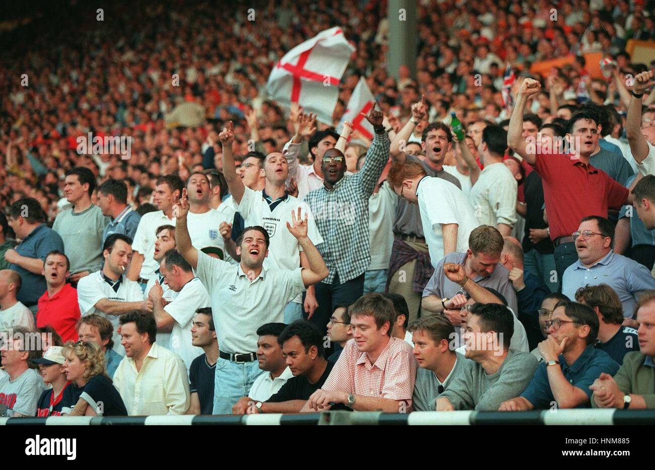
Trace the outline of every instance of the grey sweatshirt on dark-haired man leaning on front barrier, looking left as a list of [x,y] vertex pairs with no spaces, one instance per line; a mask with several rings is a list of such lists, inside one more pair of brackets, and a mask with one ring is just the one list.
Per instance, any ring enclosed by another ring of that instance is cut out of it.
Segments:
[[492,411],[523,393],[538,362],[531,353],[509,350],[495,374],[487,375],[475,361],[462,365],[462,371],[439,397],[449,399],[456,410]]

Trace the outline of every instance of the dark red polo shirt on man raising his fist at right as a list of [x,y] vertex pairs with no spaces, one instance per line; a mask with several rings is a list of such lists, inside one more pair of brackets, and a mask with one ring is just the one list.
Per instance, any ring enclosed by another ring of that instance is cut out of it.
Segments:
[[571,236],[588,215],[607,217],[607,208],[626,204],[626,187],[607,173],[582,163],[571,155],[536,155],[534,169],[544,182],[544,202],[550,238]]

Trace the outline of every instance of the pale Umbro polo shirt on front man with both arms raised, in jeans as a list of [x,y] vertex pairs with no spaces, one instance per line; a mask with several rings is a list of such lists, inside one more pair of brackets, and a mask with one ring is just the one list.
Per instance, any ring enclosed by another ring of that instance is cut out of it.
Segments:
[[282,323],[286,304],[305,290],[301,270],[262,270],[251,282],[240,264],[198,251],[196,276],[210,295],[221,351],[257,351],[257,328],[265,323]]

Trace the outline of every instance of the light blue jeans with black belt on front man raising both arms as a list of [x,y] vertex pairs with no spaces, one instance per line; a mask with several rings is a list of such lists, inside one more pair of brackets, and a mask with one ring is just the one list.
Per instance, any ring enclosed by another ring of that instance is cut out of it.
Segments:
[[214,410],[212,414],[232,414],[232,407],[247,397],[255,378],[263,371],[259,362],[237,364],[219,357],[214,372]]

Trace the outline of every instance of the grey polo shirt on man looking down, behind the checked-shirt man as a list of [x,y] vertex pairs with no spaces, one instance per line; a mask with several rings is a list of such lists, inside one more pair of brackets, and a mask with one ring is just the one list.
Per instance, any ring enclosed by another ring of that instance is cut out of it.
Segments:
[[[455,297],[460,291],[460,287],[443,274],[443,263],[456,262],[464,266],[464,261],[466,261],[466,253],[448,253],[445,255],[439,264],[437,264],[432,278],[428,281],[428,285],[423,289],[423,297],[428,297],[428,295],[436,295],[438,298]],[[509,276],[510,272],[498,263],[489,278],[477,276],[476,278],[472,278],[472,281],[475,281],[482,287],[491,287],[491,289],[495,289],[501,293],[506,298],[507,306],[512,309],[512,312],[518,312],[519,306],[516,301],[516,293],[514,292],[514,287]]]

